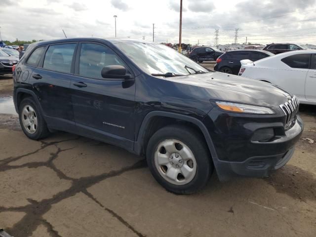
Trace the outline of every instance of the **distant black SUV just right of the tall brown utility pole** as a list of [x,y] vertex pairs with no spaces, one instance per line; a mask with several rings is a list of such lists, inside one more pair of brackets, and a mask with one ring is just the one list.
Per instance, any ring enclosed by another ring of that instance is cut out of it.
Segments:
[[191,51],[189,58],[199,63],[203,61],[215,61],[223,53],[215,47],[196,47]]

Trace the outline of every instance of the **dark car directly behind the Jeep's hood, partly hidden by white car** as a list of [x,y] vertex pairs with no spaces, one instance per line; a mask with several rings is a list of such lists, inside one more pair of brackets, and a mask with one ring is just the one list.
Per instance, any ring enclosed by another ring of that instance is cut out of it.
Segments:
[[254,49],[226,51],[216,60],[214,70],[238,75],[241,67],[240,60],[249,59],[254,62],[273,55],[268,51]]

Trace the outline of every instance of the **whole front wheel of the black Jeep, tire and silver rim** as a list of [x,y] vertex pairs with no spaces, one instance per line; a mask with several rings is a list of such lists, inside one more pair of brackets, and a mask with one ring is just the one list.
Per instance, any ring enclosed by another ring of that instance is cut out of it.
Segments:
[[146,157],[158,183],[176,194],[197,192],[213,171],[204,138],[185,126],[170,125],[158,130],[149,140]]

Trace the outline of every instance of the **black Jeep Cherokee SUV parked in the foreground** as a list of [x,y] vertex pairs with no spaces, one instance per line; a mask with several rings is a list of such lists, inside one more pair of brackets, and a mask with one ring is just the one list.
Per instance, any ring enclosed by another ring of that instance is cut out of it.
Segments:
[[63,130],[146,155],[167,190],[262,177],[293,155],[299,102],[276,86],[212,72],[172,48],[137,40],[30,45],[14,73],[14,105],[31,139]]

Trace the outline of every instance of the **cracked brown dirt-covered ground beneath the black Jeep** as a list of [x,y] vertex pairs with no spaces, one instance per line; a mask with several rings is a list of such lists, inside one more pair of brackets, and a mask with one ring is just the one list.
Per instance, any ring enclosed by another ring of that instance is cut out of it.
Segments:
[[[11,95],[0,79],[0,97]],[[14,237],[315,237],[316,107],[293,158],[269,177],[166,192],[144,157],[64,132],[28,139],[0,111],[0,228]]]

